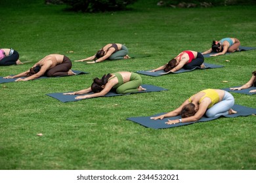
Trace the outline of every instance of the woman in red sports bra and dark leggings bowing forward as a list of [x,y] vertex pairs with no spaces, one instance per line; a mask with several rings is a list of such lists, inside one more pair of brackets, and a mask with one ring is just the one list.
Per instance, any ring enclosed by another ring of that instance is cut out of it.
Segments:
[[205,67],[203,65],[203,55],[200,52],[195,52],[191,50],[186,50],[181,52],[177,57],[171,59],[167,64],[162,65],[156,69],[153,69],[150,72],[156,72],[163,70],[166,73],[175,73],[181,68],[183,69],[194,69],[195,67]]

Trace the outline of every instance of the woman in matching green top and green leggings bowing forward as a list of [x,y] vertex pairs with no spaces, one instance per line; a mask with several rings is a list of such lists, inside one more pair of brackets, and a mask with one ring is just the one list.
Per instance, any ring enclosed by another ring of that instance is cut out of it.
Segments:
[[106,95],[112,88],[116,89],[116,93],[136,93],[142,90],[146,90],[140,86],[142,84],[142,78],[137,73],[131,73],[127,71],[121,71],[102,76],[101,79],[94,78],[91,87],[77,92],[64,93],[64,95],[81,95],[85,93],[93,92],[89,95],[81,95],[75,97],[75,99],[87,99],[91,97],[100,97]]

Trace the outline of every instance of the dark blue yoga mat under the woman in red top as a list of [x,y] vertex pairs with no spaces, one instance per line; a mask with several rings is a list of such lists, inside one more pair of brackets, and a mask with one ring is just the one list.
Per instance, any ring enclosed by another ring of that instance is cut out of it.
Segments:
[[[215,69],[215,68],[224,67],[223,65],[215,65],[215,64],[211,64],[211,63],[204,63],[204,65],[205,65],[205,68],[203,68],[203,69]],[[168,74],[185,73],[185,72],[189,72],[189,71],[194,71],[195,69],[202,69],[202,68],[201,67],[195,67],[194,69],[180,69],[179,71],[176,71],[175,73],[168,73]],[[148,71],[151,71],[151,70],[148,70]],[[136,73],[139,73],[139,74],[142,74],[142,75],[148,75],[148,76],[166,75],[165,71],[163,71],[163,70],[156,71],[156,72],[148,72],[148,71],[136,71]]]

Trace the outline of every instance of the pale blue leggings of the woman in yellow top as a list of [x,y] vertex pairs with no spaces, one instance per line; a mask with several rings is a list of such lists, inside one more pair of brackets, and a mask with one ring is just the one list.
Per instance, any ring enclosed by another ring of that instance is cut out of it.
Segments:
[[209,108],[205,112],[205,115],[209,118],[227,115],[228,110],[230,110],[230,108],[233,107],[233,105],[234,97],[230,93],[225,91],[223,100],[213,105],[213,107]]

